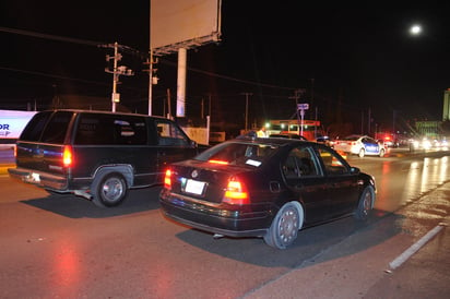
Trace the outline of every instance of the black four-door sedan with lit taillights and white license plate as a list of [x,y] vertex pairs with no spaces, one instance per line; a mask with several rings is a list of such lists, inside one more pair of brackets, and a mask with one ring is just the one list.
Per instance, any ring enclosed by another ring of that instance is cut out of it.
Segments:
[[353,215],[366,219],[374,177],[335,151],[294,139],[240,137],[170,164],[163,213],[216,237],[262,237],[285,249],[299,229]]

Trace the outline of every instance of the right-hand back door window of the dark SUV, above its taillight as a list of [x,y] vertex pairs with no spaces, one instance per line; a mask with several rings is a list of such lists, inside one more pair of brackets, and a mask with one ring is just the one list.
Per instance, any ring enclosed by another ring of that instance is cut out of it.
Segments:
[[64,143],[66,133],[68,131],[70,120],[72,119],[72,115],[73,112],[70,111],[59,111],[54,113],[50,121],[44,129],[40,141],[58,144]]

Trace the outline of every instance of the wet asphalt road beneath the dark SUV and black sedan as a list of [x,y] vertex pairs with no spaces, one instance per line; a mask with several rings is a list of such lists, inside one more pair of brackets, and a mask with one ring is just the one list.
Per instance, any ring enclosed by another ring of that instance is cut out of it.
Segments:
[[286,250],[171,223],[157,188],[100,210],[0,172],[0,298],[450,298],[447,158],[396,154],[350,158],[380,184],[367,224],[309,228]]

